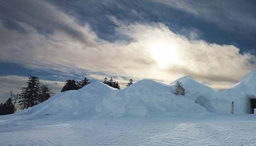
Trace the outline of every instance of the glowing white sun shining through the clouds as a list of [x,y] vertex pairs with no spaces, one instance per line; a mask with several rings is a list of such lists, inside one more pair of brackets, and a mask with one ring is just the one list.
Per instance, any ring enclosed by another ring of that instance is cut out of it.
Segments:
[[171,64],[176,64],[178,62],[177,51],[175,44],[167,42],[153,42],[149,46],[149,52],[159,68],[167,68]]

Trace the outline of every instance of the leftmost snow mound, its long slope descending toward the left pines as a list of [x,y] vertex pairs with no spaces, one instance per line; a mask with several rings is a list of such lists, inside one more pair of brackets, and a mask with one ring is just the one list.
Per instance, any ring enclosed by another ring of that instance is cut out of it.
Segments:
[[94,110],[95,106],[103,100],[105,95],[114,90],[106,84],[94,82],[79,90],[57,94],[49,100],[17,114],[27,115],[32,119],[83,119],[97,114]]

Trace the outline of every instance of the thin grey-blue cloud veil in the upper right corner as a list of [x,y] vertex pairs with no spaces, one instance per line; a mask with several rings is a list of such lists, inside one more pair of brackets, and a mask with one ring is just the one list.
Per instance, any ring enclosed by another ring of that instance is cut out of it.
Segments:
[[239,33],[255,32],[256,18],[253,4],[243,0],[154,0],[171,8],[213,22],[219,28]]

